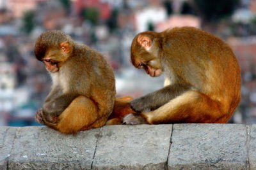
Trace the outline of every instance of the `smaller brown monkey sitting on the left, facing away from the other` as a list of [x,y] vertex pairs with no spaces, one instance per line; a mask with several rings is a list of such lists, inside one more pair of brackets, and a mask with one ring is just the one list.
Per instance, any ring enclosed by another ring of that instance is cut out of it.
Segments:
[[115,103],[115,76],[104,57],[64,32],[43,32],[35,57],[52,78],[51,92],[36,121],[65,134],[102,127]]

